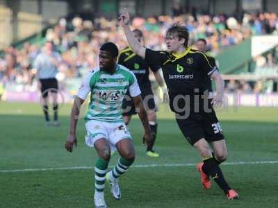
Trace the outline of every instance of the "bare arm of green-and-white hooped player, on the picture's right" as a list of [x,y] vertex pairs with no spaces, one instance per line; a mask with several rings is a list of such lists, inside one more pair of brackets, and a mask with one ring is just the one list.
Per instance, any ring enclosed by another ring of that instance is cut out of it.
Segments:
[[142,125],[144,127],[145,130],[145,139],[147,141],[147,144],[152,144],[153,138],[152,138],[152,132],[151,132],[151,128],[149,127],[149,121],[147,119],[147,112],[144,108],[143,102],[142,102],[142,98],[140,95],[135,96],[132,98],[133,103],[136,107],[136,110],[138,109],[138,116],[142,122]]

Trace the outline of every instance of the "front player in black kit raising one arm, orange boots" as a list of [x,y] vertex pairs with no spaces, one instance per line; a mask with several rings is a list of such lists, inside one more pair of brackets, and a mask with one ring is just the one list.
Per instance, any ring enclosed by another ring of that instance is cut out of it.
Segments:
[[[133,37],[127,11],[120,15],[119,21],[132,51],[146,62],[161,66],[170,108],[176,114],[179,128],[203,159],[197,164],[197,170],[204,188],[211,188],[211,177],[227,199],[238,199],[238,193],[229,187],[219,167],[227,158],[227,146],[213,110],[222,105],[224,96],[224,82],[217,67],[211,65],[204,53],[188,47],[189,34],[185,26],[173,24],[165,35],[167,51],[153,51],[143,47]],[[215,81],[216,94],[208,103],[206,83],[210,78]]]

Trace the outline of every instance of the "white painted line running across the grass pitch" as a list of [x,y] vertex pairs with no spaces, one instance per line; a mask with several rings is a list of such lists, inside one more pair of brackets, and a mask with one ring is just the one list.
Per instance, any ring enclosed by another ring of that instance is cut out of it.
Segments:
[[[251,162],[224,162],[222,165],[241,165],[241,164],[278,164],[278,161],[251,161]],[[138,164],[133,165],[131,168],[152,168],[152,167],[177,167],[177,166],[195,166],[195,163],[185,163],[185,164]],[[111,166],[112,167],[112,166]],[[26,169],[11,169],[11,170],[1,170],[0,173],[17,173],[17,172],[35,172],[35,171],[67,171],[67,170],[83,170],[83,169],[93,169],[90,166],[75,166],[75,167],[64,167],[64,168],[26,168]]]

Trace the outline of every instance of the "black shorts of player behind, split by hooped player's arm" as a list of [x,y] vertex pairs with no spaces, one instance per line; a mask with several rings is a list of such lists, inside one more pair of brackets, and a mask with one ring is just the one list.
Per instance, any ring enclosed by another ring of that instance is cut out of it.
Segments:
[[[150,88],[141,89],[141,96],[146,111],[149,110],[157,111],[156,103],[154,103],[154,94],[152,93],[152,89]],[[131,116],[135,114],[137,114],[136,107],[132,101],[130,94],[127,93],[126,97],[122,101],[122,115]]]

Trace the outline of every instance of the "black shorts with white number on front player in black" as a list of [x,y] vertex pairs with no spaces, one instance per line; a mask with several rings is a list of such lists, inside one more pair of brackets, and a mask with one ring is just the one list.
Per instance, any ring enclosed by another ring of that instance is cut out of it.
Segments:
[[224,139],[222,128],[214,110],[210,113],[191,113],[187,119],[176,118],[176,120],[183,136],[191,145],[202,138],[208,142]]

